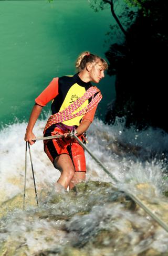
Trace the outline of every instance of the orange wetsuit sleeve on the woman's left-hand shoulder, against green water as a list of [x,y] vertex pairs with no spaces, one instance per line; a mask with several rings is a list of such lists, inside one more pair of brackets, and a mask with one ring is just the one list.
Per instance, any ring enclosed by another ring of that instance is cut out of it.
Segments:
[[40,106],[45,106],[49,101],[53,100],[58,95],[58,77],[53,78],[50,84],[43,92],[38,95],[35,102]]

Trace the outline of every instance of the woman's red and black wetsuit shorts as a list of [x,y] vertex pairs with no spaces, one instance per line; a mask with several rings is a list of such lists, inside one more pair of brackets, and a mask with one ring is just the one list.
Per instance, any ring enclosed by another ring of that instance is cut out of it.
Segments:
[[[55,127],[54,131],[51,132],[51,136],[64,134],[59,127]],[[79,136],[82,141],[83,135]],[[54,160],[58,155],[68,154],[74,164],[76,172],[86,172],[86,159],[85,152],[81,145],[76,140],[61,138],[44,141],[44,151],[48,155],[51,162],[54,164]],[[56,166],[55,166],[56,168]]]

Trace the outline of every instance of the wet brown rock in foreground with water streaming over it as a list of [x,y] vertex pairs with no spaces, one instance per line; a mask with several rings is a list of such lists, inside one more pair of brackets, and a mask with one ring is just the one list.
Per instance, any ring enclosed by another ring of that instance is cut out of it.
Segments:
[[[138,184],[137,189],[139,193],[154,193],[149,184]],[[25,211],[19,208],[20,200],[18,195],[2,205],[9,209],[1,215],[2,256],[168,253],[168,234],[111,183],[80,183],[64,193],[42,191],[39,206],[29,201]],[[158,209],[157,204],[144,202],[153,211]],[[160,215],[167,212],[167,205],[159,205]],[[165,215],[163,219],[167,221]]]

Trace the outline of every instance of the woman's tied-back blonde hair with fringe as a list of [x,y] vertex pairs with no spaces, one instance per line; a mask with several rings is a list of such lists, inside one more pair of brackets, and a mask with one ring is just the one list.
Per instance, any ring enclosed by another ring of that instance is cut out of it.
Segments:
[[99,57],[98,55],[92,54],[88,51],[82,52],[79,55],[75,66],[77,70],[80,72],[85,69],[88,63],[98,63],[98,61],[101,61],[104,70],[108,69],[108,64],[103,58]]

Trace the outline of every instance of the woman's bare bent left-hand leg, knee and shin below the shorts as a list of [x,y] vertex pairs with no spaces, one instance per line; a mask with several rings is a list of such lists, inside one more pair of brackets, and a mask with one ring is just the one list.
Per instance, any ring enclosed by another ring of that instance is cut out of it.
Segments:
[[57,156],[54,163],[56,168],[61,172],[57,182],[67,189],[75,174],[74,164],[68,154]]

